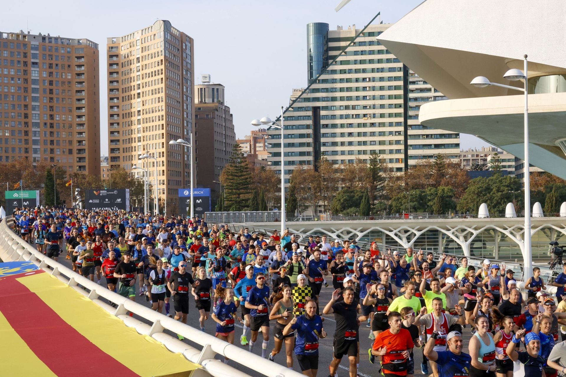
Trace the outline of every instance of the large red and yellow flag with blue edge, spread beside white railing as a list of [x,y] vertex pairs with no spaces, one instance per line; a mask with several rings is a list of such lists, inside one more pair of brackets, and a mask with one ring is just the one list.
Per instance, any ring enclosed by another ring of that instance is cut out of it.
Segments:
[[[0,263],[0,336],[0,354],[10,361],[0,366],[2,376],[72,377],[79,367],[83,377],[190,377],[200,368],[30,262]],[[117,347],[117,339],[127,346]],[[78,366],[53,349],[96,362]],[[132,349],[152,357],[132,358]]]

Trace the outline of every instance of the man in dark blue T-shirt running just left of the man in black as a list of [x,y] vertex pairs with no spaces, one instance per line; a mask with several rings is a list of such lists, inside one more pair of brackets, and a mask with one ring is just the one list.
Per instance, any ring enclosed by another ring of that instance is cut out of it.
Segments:
[[[322,327],[322,318],[316,314],[316,302],[308,300],[305,304],[305,314],[291,319],[285,326],[283,335],[297,331],[295,337],[295,355],[303,374],[316,376],[319,361],[319,339],[327,337]],[[306,373],[305,373],[306,372]]]

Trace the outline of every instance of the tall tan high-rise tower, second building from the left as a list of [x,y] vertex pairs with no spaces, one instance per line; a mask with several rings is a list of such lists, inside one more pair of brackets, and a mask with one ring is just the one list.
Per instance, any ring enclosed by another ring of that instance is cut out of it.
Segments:
[[[169,141],[191,140],[193,46],[167,20],[108,38],[110,168],[140,177],[148,171],[158,182],[160,211],[169,215],[179,213],[178,189],[190,184],[190,148]],[[145,154],[152,158],[140,158]]]

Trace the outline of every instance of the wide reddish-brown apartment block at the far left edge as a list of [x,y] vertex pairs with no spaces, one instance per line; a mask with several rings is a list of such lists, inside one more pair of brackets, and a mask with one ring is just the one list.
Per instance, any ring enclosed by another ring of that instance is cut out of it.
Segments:
[[0,162],[100,175],[98,63],[87,39],[0,32]]

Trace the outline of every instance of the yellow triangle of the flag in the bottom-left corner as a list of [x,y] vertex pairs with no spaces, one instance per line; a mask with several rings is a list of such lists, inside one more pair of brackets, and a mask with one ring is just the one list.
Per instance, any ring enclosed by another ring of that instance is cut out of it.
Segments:
[[[40,330],[38,330],[40,331]],[[53,376],[55,374],[36,356],[0,313],[0,354],[3,376]]]

